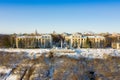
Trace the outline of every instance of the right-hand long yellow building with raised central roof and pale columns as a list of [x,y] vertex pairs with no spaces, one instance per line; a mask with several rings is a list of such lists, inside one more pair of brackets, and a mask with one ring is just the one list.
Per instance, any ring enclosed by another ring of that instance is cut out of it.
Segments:
[[65,36],[65,41],[69,48],[103,48],[105,37],[103,36],[83,36],[82,34],[72,34]]

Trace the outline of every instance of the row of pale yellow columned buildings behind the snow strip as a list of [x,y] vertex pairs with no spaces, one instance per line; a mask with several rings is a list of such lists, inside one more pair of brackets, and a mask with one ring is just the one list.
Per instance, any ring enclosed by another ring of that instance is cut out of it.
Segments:
[[[61,39],[61,48],[105,48],[107,42],[106,37],[100,35],[82,35],[64,34],[64,40]],[[117,42],[111,42],[112,48],[120,49],[120,37]],[[15,37],[16,48],[52,48],[57,47],[53,43],[53,36],[51,34],[43,35],[20,35]]]

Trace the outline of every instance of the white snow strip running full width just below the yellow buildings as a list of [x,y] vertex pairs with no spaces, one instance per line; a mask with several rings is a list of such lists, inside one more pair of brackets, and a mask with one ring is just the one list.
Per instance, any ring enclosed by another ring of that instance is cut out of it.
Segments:
[[[28,53],[27,56],[36,58],[36,56],[40,56],[42,53],[47,53],[47,52],[50,52],[51,50],[50,49],[0,49],[0,51],[15,52],[15,53],[25,52],[25,53]],[[53,50],[52,49],[52,51],[54,51],[55,56],[66,55],[68,57],[73,57],[73,58],[79,58],[79,57],[103,58],[104,54],[111,55],[111,56],[120,56],[120,50],[118,49],[73,49],[73,50],[71,49]],[[73,53],[71,53],[71,51],[73,51]]]

